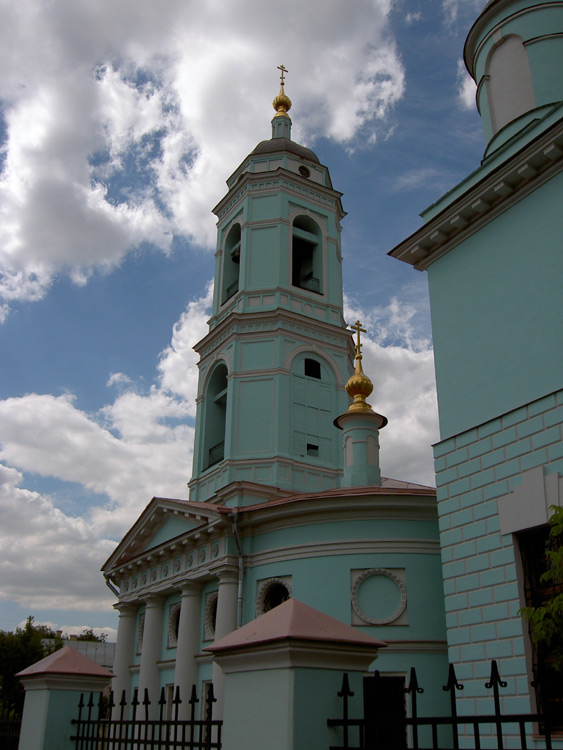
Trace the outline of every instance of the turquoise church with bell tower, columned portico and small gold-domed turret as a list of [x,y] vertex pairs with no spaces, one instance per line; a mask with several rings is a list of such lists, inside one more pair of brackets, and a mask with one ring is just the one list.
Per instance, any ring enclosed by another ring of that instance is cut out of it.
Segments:
[[436,492],[381,476],[387,420],[366,401],[361,325],[354,340],[343,319],[341,194],[291,139],[281,71],[271,138],[214,209],[189,500],[153,498],[103,566],[119,600],[114,691],[147,688],[156,710],[162,688],[187,703],[213,681],[220,715],[206,647],[293,597],[384,641],[383,679],[404,686],[416,667],[421,706],[439,712]]

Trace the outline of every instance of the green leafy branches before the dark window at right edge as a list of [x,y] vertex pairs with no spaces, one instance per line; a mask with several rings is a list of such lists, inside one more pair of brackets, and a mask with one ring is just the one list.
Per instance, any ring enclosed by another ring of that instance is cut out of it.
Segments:
[[552,592],[538,607],[524,607],[521,614],[532,626],[534,643],[549,655],[554,669],[563,672],[563,507],[552,506],[549,536],[553,549],[546,552],[548,569],[542,583]]

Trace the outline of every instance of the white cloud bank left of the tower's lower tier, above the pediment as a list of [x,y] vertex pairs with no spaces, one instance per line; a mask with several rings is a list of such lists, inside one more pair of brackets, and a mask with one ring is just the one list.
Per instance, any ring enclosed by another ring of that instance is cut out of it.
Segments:
[[[111,607],[99,569],[116,540],[152,495],[187,494],[197,385],[191,346],[206,332],[209,295],[208,287],[174,327],[160,383],[148,394],[117,373],[109,382],[126,389],[98,414],[81,411],[70,394],[0,401],[0,599],[31,610]],[[70,515],[22,487],[22,471],[76,482],[107,502]]]

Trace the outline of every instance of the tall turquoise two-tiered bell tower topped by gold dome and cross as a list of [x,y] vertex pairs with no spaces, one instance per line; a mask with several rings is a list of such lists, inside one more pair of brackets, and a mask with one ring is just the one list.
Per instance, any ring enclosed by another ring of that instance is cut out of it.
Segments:
[[214,209],[213,313],[195,346],[192,500],[241,505],[256,502],[247,483],[318,492],[342,475],[333,420],[348,406],[353,356],[342,315],[345,212],[328,169],[291,140],[279,70],[272,137],[229,177]]

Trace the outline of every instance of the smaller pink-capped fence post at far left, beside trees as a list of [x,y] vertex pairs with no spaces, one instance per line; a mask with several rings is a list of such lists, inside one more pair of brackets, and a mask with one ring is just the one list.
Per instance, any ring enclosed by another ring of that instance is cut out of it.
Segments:
[[113,674],[65,646],[16,676],[25,688],[19,750],[73,750],[81,694],[100,693]]

